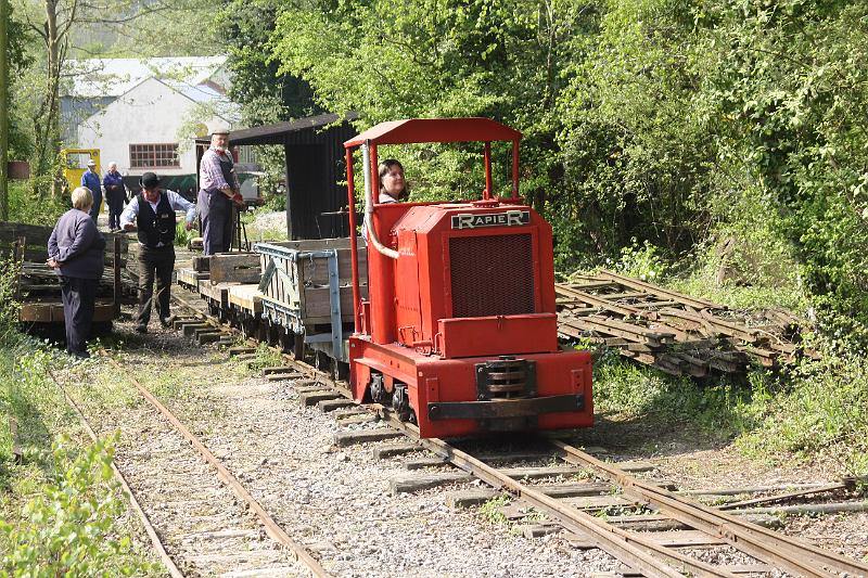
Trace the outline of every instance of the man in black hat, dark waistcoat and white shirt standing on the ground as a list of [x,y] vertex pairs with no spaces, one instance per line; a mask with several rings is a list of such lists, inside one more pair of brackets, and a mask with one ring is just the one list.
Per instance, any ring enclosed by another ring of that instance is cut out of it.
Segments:
[[[156,311],[164,327],[171,325],[169,287],[175,269],[175,211],[187,211],[187,230],[193,228],[196,207],[175,191],[161,190],[153,172],[142,175],[142,190],[120,214],[120,228],[138,229],[139,235],[139,316],[136,331],[148,333],[156,277]],[[133,223],[133,221],[136,221]]]

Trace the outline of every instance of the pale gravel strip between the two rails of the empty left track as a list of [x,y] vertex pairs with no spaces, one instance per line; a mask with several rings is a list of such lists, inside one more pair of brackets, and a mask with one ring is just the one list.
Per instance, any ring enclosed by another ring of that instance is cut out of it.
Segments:
[[[103,365],[104,360],[100,363]],[[102,371],[114,368],[102,367]],[[100,368],[88,368],[92,376]],[[114,385],[124,388],[117,376]],[[193,447],[136,391],[126,399],[89,395],[80,383],[72,395],[86,407],[98,435],[122,432],[115,463],[161,541],[186,576],[302,576],[305,573],[268,539],[255,516],[235,501]],[[131,386],[128,386],[131,387]]]

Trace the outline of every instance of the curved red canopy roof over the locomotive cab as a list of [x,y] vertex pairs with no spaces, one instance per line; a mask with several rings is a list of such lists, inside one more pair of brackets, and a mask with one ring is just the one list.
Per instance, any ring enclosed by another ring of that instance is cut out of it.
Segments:
[[344,142],[345,149],[371,144],[412,142],[518,141],[522,133],[490,118],[410,118],[390,120]]

